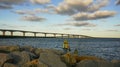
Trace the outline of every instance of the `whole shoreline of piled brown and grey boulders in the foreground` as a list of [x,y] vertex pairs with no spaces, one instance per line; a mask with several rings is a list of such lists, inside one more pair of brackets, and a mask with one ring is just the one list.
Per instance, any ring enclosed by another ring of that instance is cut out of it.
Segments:
[[0,67],[120,67],[120,60],[63,54],[56,49],[0,46]]

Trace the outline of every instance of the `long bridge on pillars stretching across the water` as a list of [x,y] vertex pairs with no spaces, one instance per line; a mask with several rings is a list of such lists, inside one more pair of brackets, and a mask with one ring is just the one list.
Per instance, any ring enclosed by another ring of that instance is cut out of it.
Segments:
[[[33,31],[8,30],[8,29],[0,29],[0,31],[2,32],[1,34],[2,37],[6,37],[6,36],[14,37],[15,32],[21,32],[22,33],[21,37],[92,38],[91,36],[86,36],[86,35],[64,34],[64,33],[33,32]],[[10,32],[10,35],[6,35],[6,32]],[[26,33],[33,33],[33,36],[29,36],[29,35],[26,36]],[[43,34],[44,36],[37,36],[36,34]],[[49,34],[53,36],[48,36]]]

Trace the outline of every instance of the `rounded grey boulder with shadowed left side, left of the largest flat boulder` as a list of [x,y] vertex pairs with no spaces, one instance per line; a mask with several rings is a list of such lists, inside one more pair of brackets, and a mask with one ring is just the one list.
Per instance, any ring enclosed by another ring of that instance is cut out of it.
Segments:
[[23,51],[23,52],[12,52],[10,55],[14,59],[14,63],[21,66],[27,62],[30,61],[30,55],[28,52]]

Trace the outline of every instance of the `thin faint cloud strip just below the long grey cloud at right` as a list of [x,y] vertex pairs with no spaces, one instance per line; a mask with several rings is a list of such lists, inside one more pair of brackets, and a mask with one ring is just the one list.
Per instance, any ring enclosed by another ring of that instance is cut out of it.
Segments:
[[64,24],[57,24],[57,26],[96,27],[97,25],[88,22],[70,22]]

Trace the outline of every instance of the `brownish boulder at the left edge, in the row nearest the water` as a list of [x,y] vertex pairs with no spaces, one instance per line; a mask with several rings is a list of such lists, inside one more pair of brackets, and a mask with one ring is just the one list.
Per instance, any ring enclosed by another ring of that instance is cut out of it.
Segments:
[[19,46],[15,45],[15,46],[0,46],[0,52],[1,53],[8,53],[8,52],[13,52],[13,51],[19,51],[20,48]]

